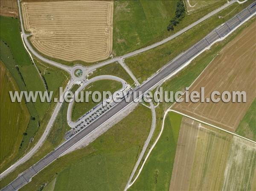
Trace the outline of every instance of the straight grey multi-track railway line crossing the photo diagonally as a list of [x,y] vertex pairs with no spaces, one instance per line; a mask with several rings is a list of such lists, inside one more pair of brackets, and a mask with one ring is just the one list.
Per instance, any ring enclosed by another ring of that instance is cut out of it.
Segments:
[[[255,4],[255,2],[253,2],[253,4]],[[151,79],[149,79],[142,85],[138,86],[138,88],[136,88],[136,91],[137,92],[141,91],[143,93],[147,92],[150,88],[157,85],[157,83],[159,83],[165,77],[168,77],[170,74],[174,73],[180,67],[185,65],[185,63],[187,61],[189,61],[191,58],[193,58],[195,55],[197,55],[200,51],[202,51],[204,48],[209,46],[211,43],[215,42],[216,40],[220,39],[221,37],[224,37],[226,34],[228,34],[230,32],[230,30],[234,29],[241,22],[243,22],[244,20],[246,20],[248,17],[250,17],[252,14],[254,14],[256,12],[256,5],[252,6],[251,8],[249,8],[249,7],[250,6],[248,6],[246,9],[241,11],[239,14],[237,14],[235,17],[233,17],[226,23],[217,27],[215,30],[213,30],[211,33],[209,33],[204,39],[202,39],[201,41],[196,43],[194,46],[189,48],[189,50],[187,50],[183,54],[180,54],[177,58],[175,58],[170,63],[168,63],[168,65],[166,65],[166,67],[163,70],[160,70],[156,75],[154,75],[154,77],[152,77]],[[139,53],[137,53],[137,54],[139,54]],[[121,59],[123,59],[123,58],[121,57]],[[121,111],[123,108],[125,108],[132,101],[133,101],[132,99],[129,102],[122,100],[120,103],[116,104],[108,112],[106,112],[105,114],[100,116],[98,119],[93,121],[93,123],[88,125],[87,128],[84,128],[82,131],[80,131],[78,134],[76,134],[74,137],[72,137],[66,143],[64,143],[60,147],[56,148],[51,153],[47,154],[47,156],[45,156],[43,159],[38,161],[35,165],[31,166],[29,169],[27,169],[26,171],[21,173],[15,180],[13,180],[9,185],[7,185],[2,190],[3,191],[15,191],[15,190],[21,188],[23,185],[28,183],[29,180],[31,180],[31,178],[33,176],[35,176],[35,174],[37,174],[39,171],[41,171],[43,168],[45,168],[47,165],[49,165],[51,162],[53,162],[64,151],[66,151],[68,148],[72,147],[77,142],[82,140],[84,137],[86,137],[88,134],[90,134],[94,129],[96,129],[99,125],[106,122],[109,118],[111,118],[113,115],[117,114],[119,111]]]

